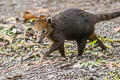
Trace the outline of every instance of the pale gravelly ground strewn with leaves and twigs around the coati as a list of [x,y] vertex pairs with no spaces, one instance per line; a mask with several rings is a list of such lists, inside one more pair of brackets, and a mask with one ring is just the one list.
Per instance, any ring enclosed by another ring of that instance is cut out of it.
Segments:
[[47,10],[40,14],[54,15],[73,7],[94,14],[108,13],[120,10],[120,0],[0,0],[0,80],[120,80],[120,32],[115,31],[120,27],[120,17],[96,24],[97,35],[107,39],[106,51],[87,44],[83,56],[76,59],[76,43],[66,41],[68,60],[62,61],[56,51],[43,64],[35,54],[44,53],[51,42],[25,41],[29,24],[15,20],[26,10]]

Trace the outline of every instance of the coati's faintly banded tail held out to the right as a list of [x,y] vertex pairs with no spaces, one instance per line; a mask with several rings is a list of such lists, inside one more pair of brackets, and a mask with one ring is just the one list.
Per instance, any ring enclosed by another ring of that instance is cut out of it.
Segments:
[[96,15],[97,19],[95,20],[95,22],[97,23],[104,20],[110,20],[119,16],[120,16],[120,11],[116,11],[112,13],[97,14]]

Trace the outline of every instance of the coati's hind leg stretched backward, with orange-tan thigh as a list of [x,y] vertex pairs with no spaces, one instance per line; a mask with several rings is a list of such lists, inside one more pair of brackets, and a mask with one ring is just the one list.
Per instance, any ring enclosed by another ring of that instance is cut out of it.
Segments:
[[97,43],[99,44],[99,46],[103,49],[106,50],[106,46],[103,44],[103,42],[101,40],[98,39],[98,37],[96,36],[96,34],[93,32],[90,37],[89,37],[90,41],[94,41],[97,40]]

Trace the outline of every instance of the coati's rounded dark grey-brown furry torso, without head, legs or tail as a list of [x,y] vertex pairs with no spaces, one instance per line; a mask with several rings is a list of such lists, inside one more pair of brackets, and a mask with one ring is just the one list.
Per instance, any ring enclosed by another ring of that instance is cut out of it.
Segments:
[[56,14],[52,22],[56,23],[55,30],[63,31],[66,39],[72,40],[88,37],[94,31],[95,17],[91,13],[72,8]]

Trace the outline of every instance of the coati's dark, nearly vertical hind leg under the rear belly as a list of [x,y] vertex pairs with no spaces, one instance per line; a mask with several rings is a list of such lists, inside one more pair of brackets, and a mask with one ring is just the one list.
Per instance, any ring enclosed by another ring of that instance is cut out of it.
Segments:
[[86,46],[87,38],[83,38],[81,40],[77,40],[78,46],[78,57],[83,54],[84,48]]

